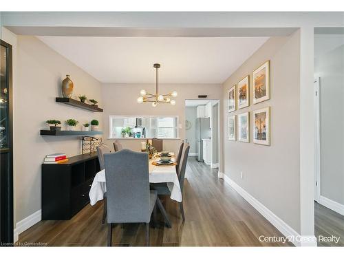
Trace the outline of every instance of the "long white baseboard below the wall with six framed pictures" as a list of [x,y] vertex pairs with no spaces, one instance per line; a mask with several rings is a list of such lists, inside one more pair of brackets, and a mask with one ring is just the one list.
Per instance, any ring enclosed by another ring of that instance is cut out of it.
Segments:
[[[277,228],[284,236],[288,237],[292,244],[295,246],[316,246],[316,237],[315,236],[301,236],[297,231],[290,227],[286,222],[283,222],[282,219],[277,217],[275,213],[272,213],[264,204],[259,202],[255,197],[250,195],[244,189],[241,188],[237,183],[228,178],[224,173],[219,173],[219,177],[224,178],[224,181],[227,182],[230,186],[241,195],[249,204],[253,206],[261,215],[263,215],[268,221]],[[312,240],[310,240],[312,239]]]

